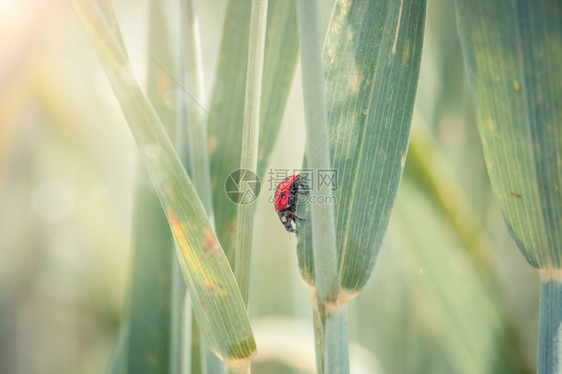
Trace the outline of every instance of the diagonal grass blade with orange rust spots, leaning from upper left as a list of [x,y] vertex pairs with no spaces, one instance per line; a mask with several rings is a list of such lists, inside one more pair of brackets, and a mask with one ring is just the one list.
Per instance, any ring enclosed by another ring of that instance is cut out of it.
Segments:
[[204,208],[160,119],[134,79],[109,2],[73,1],[113,87],[174,235],[176,250],[209,348],[231,367],[255,352],[244,303]]

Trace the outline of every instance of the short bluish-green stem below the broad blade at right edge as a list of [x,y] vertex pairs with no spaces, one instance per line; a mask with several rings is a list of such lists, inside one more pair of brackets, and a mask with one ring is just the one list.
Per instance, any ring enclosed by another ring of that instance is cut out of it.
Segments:
[[562,373],[562,282],[541,276],[537,374]]

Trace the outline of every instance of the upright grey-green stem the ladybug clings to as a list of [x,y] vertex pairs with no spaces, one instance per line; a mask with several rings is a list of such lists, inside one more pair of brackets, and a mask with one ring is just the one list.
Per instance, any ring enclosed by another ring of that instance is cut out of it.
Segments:
[[[301,52],[303,99],[306,118],[308,166],[313,170],[330,170],[330,148],[324,67],[317,1],[297,1],[297,22]],[[316,181],[311,199],[333,201],[333,192]],[[319,373],[348,373],[347,308],[337,310],[338,263],[334,207],[311,204],[312,243],[315,274],[314,333]]]

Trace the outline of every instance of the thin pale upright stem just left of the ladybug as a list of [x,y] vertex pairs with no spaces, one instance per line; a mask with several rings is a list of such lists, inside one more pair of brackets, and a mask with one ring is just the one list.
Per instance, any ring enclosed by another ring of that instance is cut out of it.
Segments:
[[[244,124],[242,127],[242,156],[240,169],[257,174],[258,137],[261,105],[262,74],[265,51],[265,32],[267,24],[267,0],[253,0],[250,16],[250,44],[248,49],[248,68],[246,76],[246,101]],[[254,204],[238,206],[238,231],[235,239],[234,275],[242,298],[248,306],[250,276],[250,254]]]

